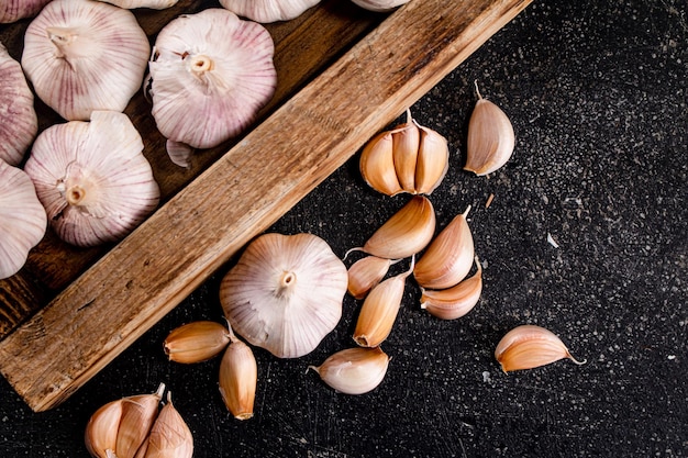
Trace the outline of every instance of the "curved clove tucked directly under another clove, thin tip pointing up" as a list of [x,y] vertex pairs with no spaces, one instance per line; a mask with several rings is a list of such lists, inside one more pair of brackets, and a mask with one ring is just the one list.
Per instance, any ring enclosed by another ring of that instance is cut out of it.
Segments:
[[476,273],[455,287],[443,290],[421,288],[421,309],[442,320],[456,320],[470,312],[482,292],[482,266],[477,256],[475,261],[478,266]]

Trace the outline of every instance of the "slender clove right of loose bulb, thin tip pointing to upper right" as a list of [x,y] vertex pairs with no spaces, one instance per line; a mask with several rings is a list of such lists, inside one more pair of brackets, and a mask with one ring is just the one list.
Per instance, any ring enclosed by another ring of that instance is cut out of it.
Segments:
[[389,336],[399,314],[407,277],[412,271],[413,258],[408,271],[388,278],[370,290],[356,321],[356,344],[362,347],[377,347]]

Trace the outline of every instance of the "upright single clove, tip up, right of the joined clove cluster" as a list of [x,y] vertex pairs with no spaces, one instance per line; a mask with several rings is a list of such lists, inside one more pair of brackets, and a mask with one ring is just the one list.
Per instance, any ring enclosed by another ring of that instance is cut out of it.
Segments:
[[507,114],[478,91],[478,101],[468,122],[465,170],[478,176],[491,174],[502,167],[515,145],[513,126]]

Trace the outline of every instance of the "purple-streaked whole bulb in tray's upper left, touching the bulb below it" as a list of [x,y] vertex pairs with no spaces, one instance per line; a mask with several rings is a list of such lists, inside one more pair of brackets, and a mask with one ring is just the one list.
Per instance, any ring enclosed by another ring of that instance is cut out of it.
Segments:
[[66,120],[124,111],[141,87],[151,45],[131,11],[53,0],[31,22],[22,67],[36,94]]

